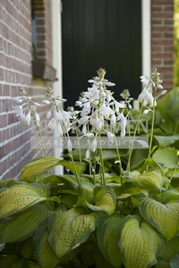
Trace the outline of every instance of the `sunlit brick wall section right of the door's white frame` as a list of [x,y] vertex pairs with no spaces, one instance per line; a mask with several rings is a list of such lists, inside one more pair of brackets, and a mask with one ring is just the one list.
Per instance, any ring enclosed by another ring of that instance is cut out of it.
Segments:
[[151,0],[151,65],[158,68],[168,90],[174,80],[173,16],[173,0]]

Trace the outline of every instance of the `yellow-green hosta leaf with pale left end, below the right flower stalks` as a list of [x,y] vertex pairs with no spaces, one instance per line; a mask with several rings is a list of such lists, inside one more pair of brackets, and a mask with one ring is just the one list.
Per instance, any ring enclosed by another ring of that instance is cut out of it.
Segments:
[[158,192],[161,191],[164,184],[164,179],[158,171],[148,171],[142,174],[140,172],[130,172],[129,176],[124,177],[124,180],[132,182],[135,186],[153,189]]

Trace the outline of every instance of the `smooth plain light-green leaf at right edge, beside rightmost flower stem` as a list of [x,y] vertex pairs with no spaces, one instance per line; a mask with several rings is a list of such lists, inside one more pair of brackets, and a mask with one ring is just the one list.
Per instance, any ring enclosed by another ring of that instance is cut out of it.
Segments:
[[158,149],[152,157],[154,161],[165,164],[169,169],[175,169],[178,163],[177,150],[171,147]]

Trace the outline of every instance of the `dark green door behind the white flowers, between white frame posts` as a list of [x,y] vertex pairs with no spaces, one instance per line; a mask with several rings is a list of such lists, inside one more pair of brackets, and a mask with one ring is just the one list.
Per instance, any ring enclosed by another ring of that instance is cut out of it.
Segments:
[[101,67],[115,98],[141,92],[141,0],[63,0],[63,96],[74,105]]

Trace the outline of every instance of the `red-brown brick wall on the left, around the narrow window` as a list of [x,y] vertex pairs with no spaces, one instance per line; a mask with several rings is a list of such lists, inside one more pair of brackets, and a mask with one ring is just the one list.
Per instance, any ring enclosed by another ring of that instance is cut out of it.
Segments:
[[[50,1],[44,0],[44,62],[52,62]],[[43,0],[38,1],[43,2]],[[46,10],[47,9],[47,10]],[[47,19],[48,18],[48,19]],[[41,103],[47,87],[45,80],[31,76],[31,4],[30,0],[0,1],[0,180],[17,177],[24,164],[41,151],[31,149],[31,130],[25,129],[13,114],[19,88]],[[40,108],[45,120],[47,108]]]

